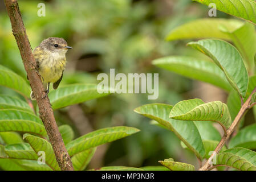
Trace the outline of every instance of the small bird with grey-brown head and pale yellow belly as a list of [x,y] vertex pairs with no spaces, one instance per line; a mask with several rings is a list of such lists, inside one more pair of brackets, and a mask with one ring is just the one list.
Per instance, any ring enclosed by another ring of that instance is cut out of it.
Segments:
[[[72,49],[72,47],[67,46],[67,42],[63,38],[48,38],[44,39],[32,52],[46,95],[49,93],[51,82],[53,88],[57,89],[62,81],[68,49]],[[35,100],[33,91],[30,97],[31,100]]]

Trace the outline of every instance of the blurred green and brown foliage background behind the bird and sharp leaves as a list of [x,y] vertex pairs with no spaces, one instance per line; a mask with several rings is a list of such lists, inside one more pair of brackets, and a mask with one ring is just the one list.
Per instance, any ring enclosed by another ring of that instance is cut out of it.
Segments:
[[[67,68],[61,85],[76,82],[97,83],[99,73],[159,73],[159,98],[147,94],[112,94],[55,111],[59,125],[68,124],[76,137],[112,126],[132,126],[140,133],[97,148],[88,168],[101,166],[160,166],[159,160],[197,160],[181,148],[180,140],[165,129],[151,125],[148,118],[133,109],[152,102],[174,105],[194,97],[194,81],[156,68],[151,61],[167,55],[193,55],[189,40],[166,42],[174,27],[208,17],[208,7],[189,0],[20,0],[23,21],[31,47],[48,37],[67,40],[73,47],[67,53]],[[46,16],[39,17],[38,3],[46,5]],[[228,15],[218,12],[218,18]],[[22,77],[26,72],[11,32],[9,16],[0,1],[0,64]],[[0,93],[18,94],[0,87]]]

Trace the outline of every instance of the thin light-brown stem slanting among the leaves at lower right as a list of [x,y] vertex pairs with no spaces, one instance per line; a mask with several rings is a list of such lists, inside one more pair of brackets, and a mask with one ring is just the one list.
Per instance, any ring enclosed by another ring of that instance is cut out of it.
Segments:
[[248,109],[250,109],[250,102],[251,102],[251,96],[256,92],[256,87],[253,89],[253,92],[251,92],[250,96],[247,98],[246,102],[242,105],[241,109],[239,110],[237,116],[235,117],[233,123],[230,125],[229,129],[227,130],[227,135],[224,135],[218,144],[218,146],[215,148],[213,154],[210,156],[210,158],[207,160],[207,162],[202,166],[199,170],[200,171],[208,171],[211,169],[212,159],[215,155],[218,154],[218,152],[221,151],[221,148],[226,143],[227,139],[229,139],[230,135],[234,132],[235,127],[238,125],[239,121],[242,119],[243,115],[246,113]]

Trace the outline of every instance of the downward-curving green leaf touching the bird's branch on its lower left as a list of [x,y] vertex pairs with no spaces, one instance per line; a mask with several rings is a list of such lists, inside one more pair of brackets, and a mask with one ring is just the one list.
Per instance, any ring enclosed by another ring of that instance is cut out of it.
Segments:
[[45,152],[46,164],[53,170],[60,170],[58,163],[55,159],[54,150],[52,149],[51,144],[39,137],[35,137],[30,134],[24,134],[23,139],[30,144],[33,150],[38,153],[39,151]]

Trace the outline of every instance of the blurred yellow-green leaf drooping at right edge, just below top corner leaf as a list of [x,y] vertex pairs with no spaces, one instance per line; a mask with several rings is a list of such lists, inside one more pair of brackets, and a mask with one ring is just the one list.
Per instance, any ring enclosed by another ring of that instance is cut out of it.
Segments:
[[252,72],[254,68],[254,55],[256,52],[256,32],[255,26],[246,22],[242,27],[237,30],[230,31],[222,28],[232,39],[235,47],[238,48],[246,62],[247,69]]

